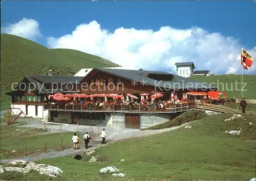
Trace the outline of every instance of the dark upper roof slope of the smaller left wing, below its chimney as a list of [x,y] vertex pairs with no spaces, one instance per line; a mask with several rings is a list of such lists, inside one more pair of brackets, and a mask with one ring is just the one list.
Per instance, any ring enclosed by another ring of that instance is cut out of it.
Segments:
[[30,75],[40,83],[78,83],[83,76],[66,76],[66,75]]

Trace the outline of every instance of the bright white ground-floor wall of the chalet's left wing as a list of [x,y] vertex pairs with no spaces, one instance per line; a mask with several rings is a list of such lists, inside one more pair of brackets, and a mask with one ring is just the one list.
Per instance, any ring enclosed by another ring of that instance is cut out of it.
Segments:
[[[11,108],[19,108],[24,114],[26,114],[26,105],[11,105]],[[15,115],[19,114],[20,110],[14,109],[12,110]],[[25,117],[25,115],[22,114],[20,117]],[[48,117],[49,111],[43,111],[42,106],[37,106],[37,116],[35,115],[35,106],[28,106],[28,117],[33,118],[46,118]]]

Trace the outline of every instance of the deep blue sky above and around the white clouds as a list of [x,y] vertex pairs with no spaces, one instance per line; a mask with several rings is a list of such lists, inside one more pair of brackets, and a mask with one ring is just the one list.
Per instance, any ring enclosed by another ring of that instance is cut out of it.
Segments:
[[[243,46],[248,50],[252,50],[253,47],[256,46],[256,3],[253,1],[4,1],[1,3],[1,27],[6,27],[9,23],[17,23],[23,18],[33,19],[39,23],[41,34],[41,36],[33,40],[48,47],[67,47],[57,41],[57,38],[66,34],[72,35],[72,32],[75,31],[79,24],[88,24],[93,20],[96,20],[97,23],[100,24],[101,29],[108,30],[109,33],[114,33],[115,30],[121,27],[124,29],[152,30],[153,32],[159,31],[159,29],[164,26],[183,31],[191,29],[191,27],[199,27],[206,32],[205,34],[220,33],[220,36],[224,39],[233,37],[232,43],[236,44],[236,46]],[[49,37],[54,37],[55,43],[49,43]],[[207,38],[207,35],[205,35],[205,37]],[[225,44],[228,44],[228,42],[229,40],[227,40]],[[56,45],[56,43],[58,43],[58,45]],[[52,44],[52,46],[50,44]],[[55,46],[53,46],[53,44]],[[102,53],[103,50],[96,52],[91,49],[87,50],[75,46],[73,47],[73,49],[89,51],[88,53],[94,53],[100,56],[105,55]],[[72,48],[72,46],[69,48]],[[177,52],[177,50],[175,51]],[[175,56],[181,57],[183,55],[179,54]],[[191,56],[189,56],[189,58],[191,58]],[[111,56],[105,55],[104,58],[109,59]],[[112,58],[114,60],[116,59],[113,56]],[[215,60],[215,58],[216,57],[209,59]],[[166,60],[170,61],[170,59],[171,58],[168,57],[168,60]],[[187,59],[188,58],[182,58],[182,61],[187,61]],[[197,57],[195,57],[195,59],[197,59]],[[176,61],[178,60],[177,58]],[[209,65],[205,65],[205,63],[202,66],[199,65],[199,67],[201,69],[212,68]]]

